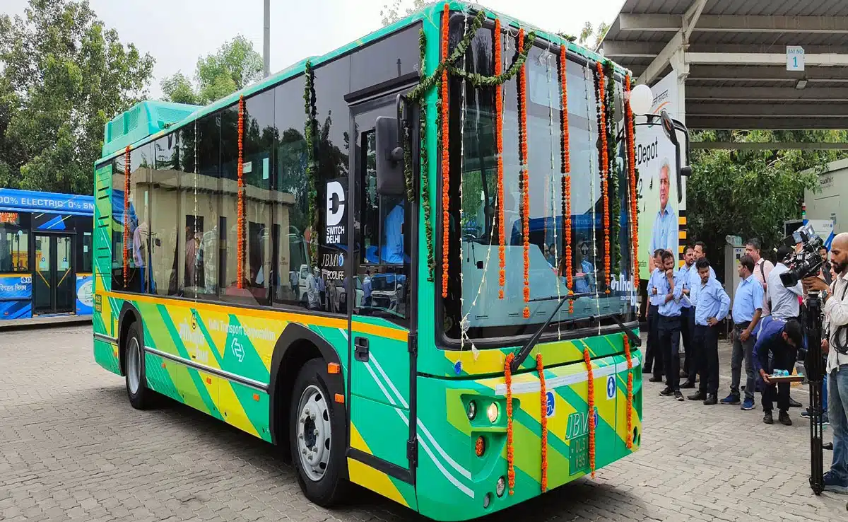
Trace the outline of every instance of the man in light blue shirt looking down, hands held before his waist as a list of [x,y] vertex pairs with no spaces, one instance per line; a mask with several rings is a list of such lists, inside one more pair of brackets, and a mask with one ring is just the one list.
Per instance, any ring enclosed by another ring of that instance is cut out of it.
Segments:
[[661,396],[674,396],[683,401],[680,393],[680,298],[683,295],[683,280],[674,270],[674,254],[662,253],[663,278],[658,283],[658,294],[662,295],[659,307],[660,322],[656,331],[660,337],[663,367],[666,368],[666,389]]

